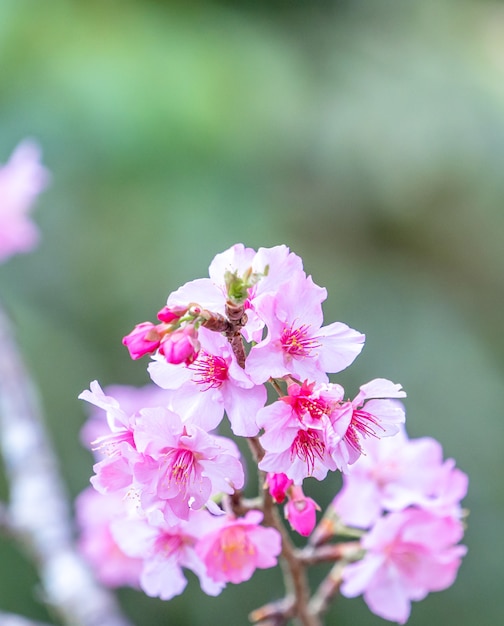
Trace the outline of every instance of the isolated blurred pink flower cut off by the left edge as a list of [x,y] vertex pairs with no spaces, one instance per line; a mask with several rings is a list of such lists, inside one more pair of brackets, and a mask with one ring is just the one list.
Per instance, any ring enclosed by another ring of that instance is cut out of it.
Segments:
[[28,213],[48,181],[49,173],[40,164],[40,148],[28,140],[0,167],[0,263],[37,244],[38,230]]

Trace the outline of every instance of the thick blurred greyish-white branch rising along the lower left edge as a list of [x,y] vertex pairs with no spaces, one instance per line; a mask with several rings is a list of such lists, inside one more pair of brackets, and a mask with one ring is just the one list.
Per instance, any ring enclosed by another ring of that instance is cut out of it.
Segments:
[[2,517],[34,559],[47,604],[68,626],[128,626],[75,549],[68,500],[37,393],[1,308],[0,451],[10,492]]

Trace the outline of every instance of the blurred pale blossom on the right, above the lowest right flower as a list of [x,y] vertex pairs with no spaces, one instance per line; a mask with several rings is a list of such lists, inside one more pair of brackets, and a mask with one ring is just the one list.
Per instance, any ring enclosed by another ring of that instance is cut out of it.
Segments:
[[349,526],[370,527],[384,511],[429,508],[439,515],[461,516],[467,476],[443,462],[441,445],[429,437],[408,439],[403,428],[386,439],[370,439],[366,454],[343,476],[333,506]]

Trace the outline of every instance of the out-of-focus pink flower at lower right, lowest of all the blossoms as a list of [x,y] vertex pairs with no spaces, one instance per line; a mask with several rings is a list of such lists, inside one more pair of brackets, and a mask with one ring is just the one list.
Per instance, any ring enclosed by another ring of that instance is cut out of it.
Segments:
[[453,584],[466,553],[455,545],[462,535],[462,523],[452,517],[417,509],[391,513],[362,539],[366,554],[346,566],[341,593],[364,594],[373,613],[404,624],[412,600]]

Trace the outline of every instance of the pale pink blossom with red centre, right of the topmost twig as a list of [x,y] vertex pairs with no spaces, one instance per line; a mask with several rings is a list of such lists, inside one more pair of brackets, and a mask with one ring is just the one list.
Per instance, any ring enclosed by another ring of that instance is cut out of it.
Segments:
[[340,372],[353,362],[364,335],[340,322],[321,327],[326,296],[311,277],[295,274],[277,293],[263,297],[257,312],[268,334],[252,347],[245,366],[254,382],[287,375],[327,382],[327,373]]

